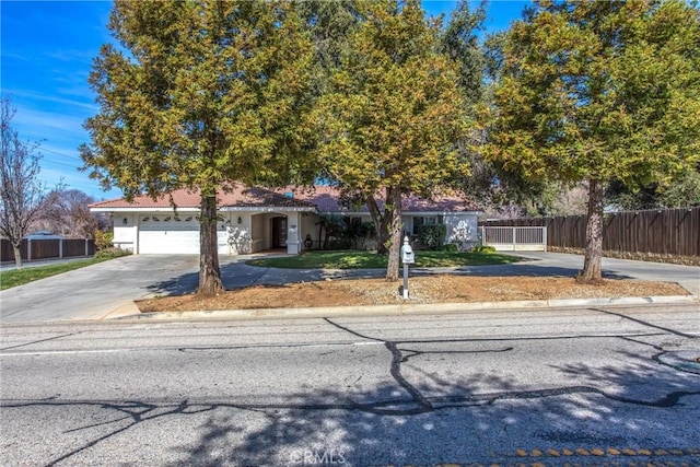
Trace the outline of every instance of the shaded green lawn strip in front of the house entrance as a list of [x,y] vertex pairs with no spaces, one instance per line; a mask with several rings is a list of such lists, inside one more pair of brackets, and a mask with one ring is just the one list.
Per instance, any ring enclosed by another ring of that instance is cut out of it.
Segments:
[[[456,266],[504,265],[521,258],[498,253],[416,252],[412,267],[436,268]],[[288,269],[370,269],[386,268],[386,257],[373,252],[307,252],[284,258],[260,258],[247,261],[250,266]]]

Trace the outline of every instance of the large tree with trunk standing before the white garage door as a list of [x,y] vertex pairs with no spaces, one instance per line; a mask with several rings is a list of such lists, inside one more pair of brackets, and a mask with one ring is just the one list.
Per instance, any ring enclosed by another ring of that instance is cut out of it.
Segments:
[[201,194],[201,294],[221,291],[217,192],[307,175],[313,48],[290,1],[116,1],[90,83],[85,168],[127,197]]

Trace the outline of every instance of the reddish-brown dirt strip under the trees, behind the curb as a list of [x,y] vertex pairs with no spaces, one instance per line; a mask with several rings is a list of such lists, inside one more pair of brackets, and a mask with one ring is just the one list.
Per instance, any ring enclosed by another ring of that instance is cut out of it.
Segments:
[[[402,282],[383,279],[325,280],[288,285],[255,285],[214,297],[195,294],[137,302],[142,313],[209,310],[294,308],[311,306],[389,305],[405,302]],[[670,282],[603,280],[595,285],[573,278],[428,276],[411,278],[410,303],[499,302],[514,300],[599,299],[688,295]]]

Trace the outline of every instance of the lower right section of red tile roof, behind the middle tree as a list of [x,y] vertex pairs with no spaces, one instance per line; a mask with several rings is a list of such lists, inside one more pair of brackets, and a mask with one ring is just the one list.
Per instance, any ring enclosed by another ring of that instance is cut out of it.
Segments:
[[[318,212],[369,212],[366,205],[362,205],[359,209],[354,207],[343,206],[340,200],[340,190],[332,186],[316,185],[313,188],[303,187],[285,187],[277,190],[278,192],[293,192],[294,199],[301,199],[312,202],[318,209]],[[384,209],[384,199],[381,195],[376,197],[377,206]],[[481,211],[480,208],[465,201],[456,194],[444,194],[433,199],[420,198],[416,195],[407,195],[401,199],[404,212],[465,212]]]

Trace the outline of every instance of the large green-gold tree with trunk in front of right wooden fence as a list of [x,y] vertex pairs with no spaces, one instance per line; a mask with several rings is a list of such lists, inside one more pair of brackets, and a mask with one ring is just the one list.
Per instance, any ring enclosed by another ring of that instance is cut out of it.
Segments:
[[500,42],[489,155],[587,182],[582,281],[602,277],[606,184],[667,185],[700,157],[698,44],[682,0],[540,1]]

